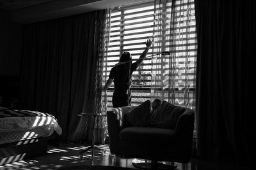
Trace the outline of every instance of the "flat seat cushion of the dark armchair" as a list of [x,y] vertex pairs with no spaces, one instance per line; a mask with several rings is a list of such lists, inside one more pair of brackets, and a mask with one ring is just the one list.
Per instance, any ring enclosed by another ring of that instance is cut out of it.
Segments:
[[150,145],[170,145],[174,143],[175,131],[157,127],[127,127],[120,132],[120,140]]

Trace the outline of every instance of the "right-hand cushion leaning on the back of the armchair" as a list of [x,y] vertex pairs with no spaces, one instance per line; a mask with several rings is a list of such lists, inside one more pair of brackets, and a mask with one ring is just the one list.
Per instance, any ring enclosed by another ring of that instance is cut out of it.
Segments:
[[150,114],[149,124],[152,127],[175,129],[175,125],[184,111],[185,108],[162,101],[156,110]]

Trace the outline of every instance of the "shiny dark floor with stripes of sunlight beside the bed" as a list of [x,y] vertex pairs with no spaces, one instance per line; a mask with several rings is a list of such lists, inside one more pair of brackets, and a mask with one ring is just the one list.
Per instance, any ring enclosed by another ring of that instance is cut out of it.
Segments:
[[[79,151],[88,148],[89,146],[83,146],[81,144],[66,144],[61,143],[60,148],[49,148],[49,151],[45,155],[34,157],[33,159],[20,160],[13,162],[12,164],[5,164],[0,166],[0,169],[60,169],[61,167],[71,166],[115,166],[115,167],[129,167],[131,169],[137,169],[132,166],[133,158],[118,157],[109,153],[108,145],[96,145],[101,149],[106,150],[106,153],[95,152],[95,157],[91,159],[91,152],[84,155],[83,159],[79,157]],[[71,168],[70,168],[71,169]],[[210,162],[202,162],[200,160],[191,159],[188,164],[177,164],[177,170],[252,170],[246,167],[237,167],[229,165],[220,165]]]

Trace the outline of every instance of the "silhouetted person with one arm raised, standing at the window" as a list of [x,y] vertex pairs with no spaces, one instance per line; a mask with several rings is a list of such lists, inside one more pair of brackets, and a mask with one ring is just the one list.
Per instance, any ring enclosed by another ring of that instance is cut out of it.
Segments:
[[111,83],[114,81],[115,90],[112,97],[113,108],[122,106],[129,106],[131,104],[131,81],[132,72],[135,71],[141,62],[147,56],[148,50],[152,45],[152,38],[148,38],[145,42],[146,48],[140,55],[140,59],[132,63],[131,53],[123,52],[118,64],[112,67],[108,81],[106,82],[104,90],[107,90]]

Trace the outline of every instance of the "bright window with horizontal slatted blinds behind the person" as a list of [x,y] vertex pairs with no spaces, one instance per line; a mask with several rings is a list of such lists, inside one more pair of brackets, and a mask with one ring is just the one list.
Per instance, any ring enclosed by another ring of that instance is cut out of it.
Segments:
[[[157,66],[157,63],[152,62],[150,57],[146,58],[140,67],[132,74],[132,105],[138,105],[150,100],[152,92],[152,71],[157,70],[157,74],[154,81],[154,88],[159,85],[158,91],[168,90],[168,87],[164,87],[163,79],[168,80],[170,78],[170,67],[175,65],[175,68],[179,68],[178,72],[173,71],[179,87],[177,87],[177,97],[182,97],[184,94],[184,87],[180,81],[191,80],[189,89],[193,91],[195,88],[193,79],[195,78],[195,55],[196,55],[196,32],[195,32],[195,15],[191,15],[189,19],[189,26],[183,25],[187,22],[182,21],[182,16],[186,15],[188,10],[193,9],[193,3],[189,4],[187,1],[177,1],[175,8],[180,8],[175,13],[175,17],[179,17],[179,20],[175,20],[174,27],[166,24],[170,21],[170,10],[172,8],[171,3],[167,3],[164,7],[165,11],[158,10],[159,6],[154,6],[154,1],[147,1],[146,3],[135,4],[130,6],[121,6],[119,8],[111,9],[110,17],[110,30],[108,38],[108,49],[106,52],[106,58],[104,59],[104,78],[103,84],[109,76],[109,72],[113,66],[118,62],[122,52],[129,51],[132,55],[132,61],[135,62],[139,59],[140,54],[145,49],[145,41],[148,37],[154,36],[154,45],[148,51],[148,55],[156,53],[155,49],[161,49],[161,51],[175,52],[177,57],[175,60],[166,58],[161,62],[161,66]],[[185,7],[184,7],[185,6]],[[189,6],[189,9],[188,9]],[[161,7],[162,8],[162,7]],[[183,9],[182,9],[183,8]],[[156,22],[157,16],[164,17],[164,22]],[[158,25],[157,25],[158,24]],[[161,29],[160,29],[161,28]],[[170,29],[174,29],[175,34],[170,35]],[[189,37],[188,37],[189,31]],[[163,38],[164,36],[164,38]],[[175,43],[170,44],[170,40],[175,39]],[[190,57],[188,57],[191,56]],[[156,58],[162,57],[157,55]],[[185,62],[186,60],[186,62]],[[188,62],[189,60],[189,62]],[[189,64],[188,64],[189,63]],[[159,64],[158,64],[159,65]],[[161,68],[161,71],[158,69]],[[191,74],[185,74],[188,70]],[[164,76],[166,75],[166,76]],[[157,79],[157,77],[159,77]],[[178,82],[179,81],[179,82]],[[188,85],[186,85],[188,86]],[[112,94],[114,85],[107,91],[107,104],[108,107],[112,107]]]

